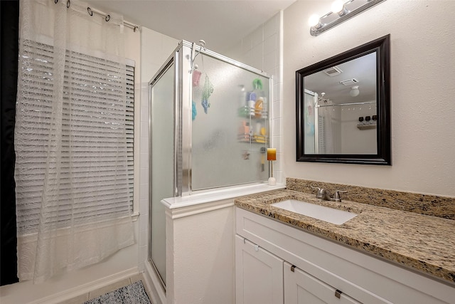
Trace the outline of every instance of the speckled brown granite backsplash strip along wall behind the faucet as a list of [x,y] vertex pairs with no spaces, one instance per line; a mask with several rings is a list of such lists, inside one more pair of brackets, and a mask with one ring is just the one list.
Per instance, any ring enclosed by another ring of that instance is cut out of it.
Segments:
[[315,194],[316,190],[311,187],[319,187],[327,189],[331,195],[337,189],[346,190],[347,193],[341,194],[341,199],[455,220],[455,197],[398,192],[346,184],[329,184],[292,178],[286,179],[286,187],[289,190]]

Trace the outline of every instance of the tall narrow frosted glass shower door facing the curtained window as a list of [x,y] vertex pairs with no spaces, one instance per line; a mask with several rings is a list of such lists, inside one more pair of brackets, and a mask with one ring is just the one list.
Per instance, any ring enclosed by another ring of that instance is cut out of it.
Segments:
[[161,199],[174,196],[173,64],[150,85],[151,98],[151,261],[166,284],[166,216]]

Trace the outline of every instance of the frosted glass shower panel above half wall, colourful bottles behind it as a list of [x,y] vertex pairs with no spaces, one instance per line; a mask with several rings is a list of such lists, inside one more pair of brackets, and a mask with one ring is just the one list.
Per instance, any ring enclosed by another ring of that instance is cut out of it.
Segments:
[[195,63],[192,190],[267,180],[270,79],[205,54]]

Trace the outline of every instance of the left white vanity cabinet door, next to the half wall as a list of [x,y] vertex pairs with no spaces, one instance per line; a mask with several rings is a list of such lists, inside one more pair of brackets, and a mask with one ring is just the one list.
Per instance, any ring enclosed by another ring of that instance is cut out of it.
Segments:
[[283,260],[235,236],[235,303],[283,303]]

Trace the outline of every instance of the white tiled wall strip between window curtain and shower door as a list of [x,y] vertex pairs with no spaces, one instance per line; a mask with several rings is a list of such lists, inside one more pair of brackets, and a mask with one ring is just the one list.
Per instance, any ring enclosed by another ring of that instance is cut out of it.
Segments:
[[139,271],[145,270],[149,239],[149,81],[178,46],[178,40],[141,28],[141,125],[139,157]]

